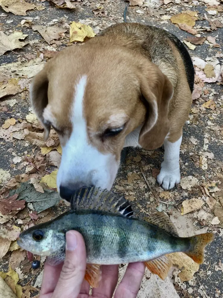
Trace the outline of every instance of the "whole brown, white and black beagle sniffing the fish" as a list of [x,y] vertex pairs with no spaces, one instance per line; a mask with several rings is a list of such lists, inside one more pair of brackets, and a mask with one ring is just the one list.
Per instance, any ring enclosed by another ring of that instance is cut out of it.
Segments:
[[57,132],[60,196],[82,186],[110,190],[124,147],[164,144],[158,183],[180,182],[183,125],[191,108],[194,68],[173,34],[137,23],[115,24],[46,63],[32,82],[32,107]]

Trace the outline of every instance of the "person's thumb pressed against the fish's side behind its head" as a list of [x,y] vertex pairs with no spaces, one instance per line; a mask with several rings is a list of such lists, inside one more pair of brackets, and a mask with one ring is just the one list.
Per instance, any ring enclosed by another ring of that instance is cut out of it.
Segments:
[[82,235],[66,232],[66,257],[52,298],[77,298],[86,270],[86,250]]

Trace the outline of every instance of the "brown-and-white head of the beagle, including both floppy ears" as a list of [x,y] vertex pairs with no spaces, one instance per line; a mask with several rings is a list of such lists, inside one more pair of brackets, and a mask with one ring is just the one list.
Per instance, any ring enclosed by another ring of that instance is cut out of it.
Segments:
[[62,146],[57,175],[60,195],[69,201],[83,185],[110,190],[128,134],[141,127],[138,143],[161,146],[173,87],[146,58],[127,49],[72,46],[46,63],[31,86],[31,102]]

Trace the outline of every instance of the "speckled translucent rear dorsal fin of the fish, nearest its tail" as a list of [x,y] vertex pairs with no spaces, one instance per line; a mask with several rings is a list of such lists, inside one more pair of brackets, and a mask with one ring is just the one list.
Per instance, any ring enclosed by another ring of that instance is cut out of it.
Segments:
[[160,229],[165,230],[172,236],[179,237],[177,229],[175,228],[174,224],[165,212],[157,212],[150,214],[149,216],[144,217],[143,220],[147,221],[149,224],[158,226]]

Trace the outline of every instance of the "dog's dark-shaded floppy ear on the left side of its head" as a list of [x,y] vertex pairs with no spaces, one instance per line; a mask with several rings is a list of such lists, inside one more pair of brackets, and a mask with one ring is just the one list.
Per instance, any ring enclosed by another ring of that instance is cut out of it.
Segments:
[[37,75],[35,75],[30,87],[30,98],[32,108],[45,128],[45,140],[48,139],[50,132],[50,125],[49,123],[44,122],[43,118],[44,108],[46,108],[48,104],[48,84],[49,80],[47,77],[47,70],[45,66],[43,70],[41,70]]

